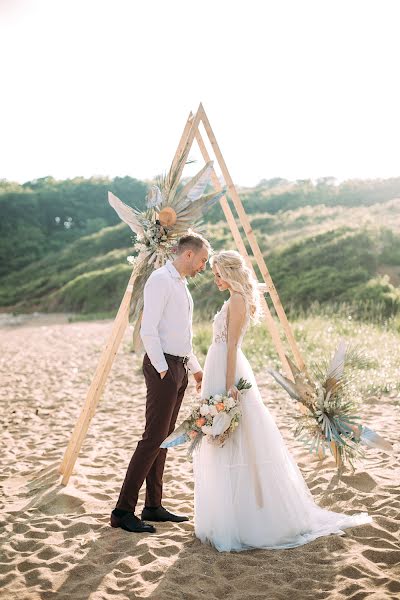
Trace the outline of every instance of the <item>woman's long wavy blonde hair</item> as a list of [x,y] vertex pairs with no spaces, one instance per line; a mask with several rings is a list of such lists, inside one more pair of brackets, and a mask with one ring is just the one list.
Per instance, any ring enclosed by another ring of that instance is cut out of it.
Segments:
[[213,254],[210,264],[211,267],[217,267],[222,279],[228,283],[232,291],[243,296],[251,319],[258,322],[261,315],[260,294],[262,290],[242,255],[236,250],[225,250]]

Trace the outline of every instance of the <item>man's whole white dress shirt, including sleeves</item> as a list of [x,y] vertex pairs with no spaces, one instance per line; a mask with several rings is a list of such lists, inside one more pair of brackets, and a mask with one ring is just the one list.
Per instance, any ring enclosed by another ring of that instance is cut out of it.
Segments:
[[154,271],[144,286],[140,337],[153,367],[168,370],[166,354],[188,356],[188,369],[201,371],[192,350],[193,299],[187,281],[169,260]]

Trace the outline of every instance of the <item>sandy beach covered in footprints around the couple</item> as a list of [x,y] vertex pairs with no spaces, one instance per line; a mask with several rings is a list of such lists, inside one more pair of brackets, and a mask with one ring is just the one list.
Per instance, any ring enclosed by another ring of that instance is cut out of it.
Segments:
[[[129,352],[128,330],[63,487],[58,467],[111,322],[60,319],[1,321],[3,600],[400,597],[399,398],[369,398],[363,406],[365,422],[394,443],[394,453],[368,451],[357,471],[338,482],[331,459],[318,462],[293,440],[290,401],[259,374],[264,401],[317,502],[368,511],[372,524],[300,548],[240,554],[202,545],[192,521],[129,534],[110,528],[109,516],[144,423],[140,360]],[[164,481],[165,506],[192,517],[192,466],[184,448],[169,452]]]

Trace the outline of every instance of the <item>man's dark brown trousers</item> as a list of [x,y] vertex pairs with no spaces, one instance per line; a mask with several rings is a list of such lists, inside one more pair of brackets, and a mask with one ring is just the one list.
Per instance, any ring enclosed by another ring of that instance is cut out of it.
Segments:
[[145,354],[146,426],[129,463],[116,508],[135,512],[139,491],[146,480],[145,506],[160,506],[167,449],[160,444],[173,432],[188,384],[182,362],[166,357],[168,372],[163,379]]

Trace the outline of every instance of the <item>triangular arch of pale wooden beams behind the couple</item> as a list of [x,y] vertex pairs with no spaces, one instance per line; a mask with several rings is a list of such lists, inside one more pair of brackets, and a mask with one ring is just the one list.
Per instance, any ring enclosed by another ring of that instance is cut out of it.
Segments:
[[[229,171],[225,164],[221,150],[218,146],[214,132],[211,129],[210,122],[207,118],[207,115],[205,113],[205,110],[204,110],[202,104],[199,105],[199,108],[195,115],[190,113],[190,115],[186,121],[185,128],[183,130],[180,142],[179,142],[177,150],[175,152],[174,159],[172,161],[171,170],[174,168],[177,168],[177,166],[179,165],[178,176],[179,176],[179,178],[181,177],[184,164],[187,160],[187,157],[189,155],[189,152],[190,152],[190,149],[192,147],[194,140],[197,141],[197,144],[200,148],[200,151],[201,151],[201,154],[202,154],[204,160],[206,162],[208,162],[210,160],[210,156],[208,154],[206,145],[204,143],[204,140],[203,140],[202,135],[199,130],[199,126],[201,123],[203,124],[205,132],[207,134],[207,137],[210,141],[211,147],[215,154],[215,158],[219,164],[222,175],[225,179],[229,196],[230,196],[230,198],[233,202],[233,205],[236,209],[237,215],[239,217],[239,221],[240,221],[242,228],[244,230],[244,233],[247,237],[247,240],[249,242],[253,256],[256,260],[256,263],[259,267],[261,275],[267,286],[268,293],[269,293],[270,298],[275,307],[275,311],[276,311],[279,321],[282,325],[282,329],[287,337],[289,346],[293,353],[294,361],[300,370],[304,370],[304,368],[305,368],[304,361],[303,361],[303,358],[297,347],[295,338],[293,336],[293,332],[291,330],[291,327],[290,327],[289,322],[286,317],[286,313],[285,313],[283,306],[281,304],[281,301],[279,299],[278,292],[275,289],[275,286],[273,284],[273,281],[271,279],[271,276],[270,276],[267,266],[265,264],[264,258],[262,256],[261,250],[257,243],[256,237],[251,228],[249,218],[243,208],[243,204],[239,198],[239,194],[237,193],[235,185],[229,174]],[[222,189],[222,186],[220,184],[220,181],[219,181],[214,169],[212,171],[212,183],[213,183],[214,188],[217,191],[220,191]],[[226,217],[228,225],[231,229],[232,236],[236,243],[237,249],[240,252],[240,254],[245,258],[248,266],[254,271],[249,254],[246,250],[246,247],[243,242],[242,236],[240,234],[238,225],[236,223],[235,217],[232,213],[232,210],[230,208],[230,205],[228,203],[226,196],[223,196],[220,199],[220,203],[221,203],[222,210],[224,211],[224,215]],[[72,470],[74,468],[76,459],[77,459],[80,449],[82,447],[83,441],[86,437],[86,433],[88,431],[90,421],[92,420],[92,417],[95,414],[97,404],[98,404],[100,397],[102,395],[102,392],[104,390],[104,386],[105,386],[108,374],[110,372],[111,366],[113,364],[114,357],[117,353],[117,350],[121,343],[121,340],[122,340],[123,334],[126,330],[126,327],[128,326],[129,307],[130,307],[130,300],[131,300],[131,296],[132,296],[134,283],[135,283],[135,274],[134,274],[134,272],[132,272],[132,275],[131,275],[128,285],[127,285],[127,288],[125,290],[125,294],[122,298],[121,305],[120,305],[118,313],[116,315],[116,318],[115,318],[115,321],[114,321],[114,324],[113,324],[113,327],[111,330],[111,334],[109,336],[106,346],[104,347],[104,349],[101,353],[101,356],[100,356],[99,362],[97,364],[97,368],[96,368],[93,380],[90,384],[82,411],[79,415],[78,421],[72,432],[71,439],[69,441],[68,447],[64,454],[64,458],[60,465],[60,473],[62,473],[62,475],[63,475],[62,483],[64,485],[66,485],[69,481],[69,478],[70,478]],[[292,379],[292,372],[291,372],[290,366],[288,364],[288,360],[285,356],[285,351],[284,351],[283,343],[282,343],[281,336],[279,333],[279,329],[277,327],[277,324],[276,324],[274,318],[271,315],[268,304],[264,297],[263,297],[263,309],[264,309],[264,314],[265,314],[265,319],[266,319],[266,325],[271,334],[275,348],[276,348],[279,358],[281,360],[282,368],[285,371],[286,375]]]

